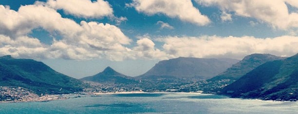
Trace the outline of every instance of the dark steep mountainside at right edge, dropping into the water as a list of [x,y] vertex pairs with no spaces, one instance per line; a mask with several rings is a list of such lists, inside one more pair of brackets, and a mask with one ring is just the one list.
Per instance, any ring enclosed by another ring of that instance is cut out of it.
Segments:
[[227,85],[222,94],[264,100],[298,99],[298,54],[267,62]]

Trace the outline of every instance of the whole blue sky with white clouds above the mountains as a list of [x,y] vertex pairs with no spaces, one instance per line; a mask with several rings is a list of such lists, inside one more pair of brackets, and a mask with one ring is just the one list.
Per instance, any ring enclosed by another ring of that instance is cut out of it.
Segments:
[[298,53],[297,0],[0,0],[0,56],[74,78],[252,53]]

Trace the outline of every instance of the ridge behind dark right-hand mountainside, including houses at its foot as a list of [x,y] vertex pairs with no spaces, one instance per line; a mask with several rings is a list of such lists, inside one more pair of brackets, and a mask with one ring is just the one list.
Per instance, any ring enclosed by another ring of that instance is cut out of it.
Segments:
[[201,90],[204,93],[218,93],[221,89],[238,80],[246,73],[269,61],[281,60],[285,57],[278,57],[270,54],[251,54],[245,56],[241,61],[227,68],[223,73],[206,81],[197,81],[191,84],[186,84],[184,91]]

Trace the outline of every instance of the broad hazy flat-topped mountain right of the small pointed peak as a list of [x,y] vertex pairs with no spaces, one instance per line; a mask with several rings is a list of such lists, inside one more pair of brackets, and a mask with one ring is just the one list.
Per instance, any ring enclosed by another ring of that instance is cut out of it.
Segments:
[[188,81],[200,81],[218,75],[238,61],[236,59],[179,57],[160,61],[148,72],[137,78],[148,79],[150,76],[173,76]]

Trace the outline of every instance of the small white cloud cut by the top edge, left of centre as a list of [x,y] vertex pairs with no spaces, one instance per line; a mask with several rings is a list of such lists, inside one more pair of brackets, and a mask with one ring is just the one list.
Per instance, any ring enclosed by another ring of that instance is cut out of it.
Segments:
[[84,18],[100,18],[113,14],[109,2],[104,0],[48,0],[46,4],[56,10],[62,9],[66,14]]

